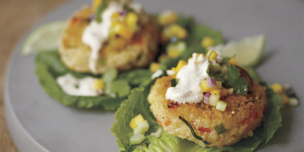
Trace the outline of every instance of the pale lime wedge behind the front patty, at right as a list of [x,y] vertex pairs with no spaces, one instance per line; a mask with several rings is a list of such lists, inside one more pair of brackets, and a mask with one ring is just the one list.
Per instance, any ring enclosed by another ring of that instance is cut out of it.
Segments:
[[265,47],[265,36],[257,35],[242,38],[239,42],[230,41],[226,45],[220,44],[216,47],[209,47],[219,52],[224,57],[233,57],[241,67],[253,67],[261,59]]

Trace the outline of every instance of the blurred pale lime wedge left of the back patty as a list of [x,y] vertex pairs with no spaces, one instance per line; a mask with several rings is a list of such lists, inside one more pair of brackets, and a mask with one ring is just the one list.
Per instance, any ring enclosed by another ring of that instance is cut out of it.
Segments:
[[26,39],[21,54],[26,56],[39,51],[57,49],[66,23],[66,21],[51,22],[36,29]]

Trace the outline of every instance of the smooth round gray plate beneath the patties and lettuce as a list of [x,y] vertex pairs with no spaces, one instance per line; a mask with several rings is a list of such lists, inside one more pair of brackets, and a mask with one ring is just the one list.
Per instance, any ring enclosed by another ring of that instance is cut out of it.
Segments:
[[[300,106],[281,110],[283,126],[258,151],[303,151],[303,2],[273,1],[148,1],[147,12],[164,9],[194,15],[222,31],[226,40],[265,34],[267,47],[263,64],[257,68],[269,84],[289,83],[300,98]],[[40,25],[65,20],[91,0],[74,1],[46,16]],[[32,29],[32,30],[33,30]],[[30,33],[30,32],[29,32]],[[5,84],[6,119],[12,137],[24,151],[118,151],[110,127],[114,112],[66,107],[46,94],[35,75],[35,57],[22,57],[16,48]]]

